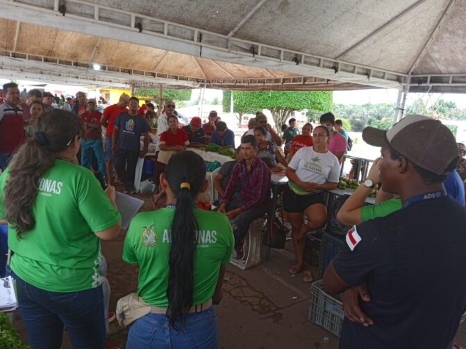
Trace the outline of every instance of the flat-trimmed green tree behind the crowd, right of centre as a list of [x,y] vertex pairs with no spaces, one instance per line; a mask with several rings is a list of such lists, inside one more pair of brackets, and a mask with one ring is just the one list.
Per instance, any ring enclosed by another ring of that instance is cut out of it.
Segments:
[[[224,92],[224,111],[230,110],[230,96]],[[267,109],[279,130],[294,110],[328,111],[332,99],[333,92],[328,91],[234,91],[233,112],[253,113]]]

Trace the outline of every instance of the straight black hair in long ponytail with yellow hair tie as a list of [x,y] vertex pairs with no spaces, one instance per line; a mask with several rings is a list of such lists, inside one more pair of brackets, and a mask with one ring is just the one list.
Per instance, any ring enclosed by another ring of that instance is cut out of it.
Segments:
[[176,195],[167,288],[167,316],[170,326],[175,328],[176,319],[181,318],[182,323],[185,322],[193,301],[194,251],[198,226],[192,209],[194,198],[206,180],[206,167],[196,153],[180,151],[170,158],[165,176],[170,189]]

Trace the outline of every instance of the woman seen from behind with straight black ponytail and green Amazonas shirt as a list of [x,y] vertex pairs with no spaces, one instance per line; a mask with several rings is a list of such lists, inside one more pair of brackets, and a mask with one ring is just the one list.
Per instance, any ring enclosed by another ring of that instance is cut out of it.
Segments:
[[224,214],[195,208],[207,189],[203,159],[172,155],[160,185],[167,206],[135,216],[123,259],[139,266],[138,296],[151,312],[130,327],[126,348],[218,348],[213,304],[222,298],[234,238]]

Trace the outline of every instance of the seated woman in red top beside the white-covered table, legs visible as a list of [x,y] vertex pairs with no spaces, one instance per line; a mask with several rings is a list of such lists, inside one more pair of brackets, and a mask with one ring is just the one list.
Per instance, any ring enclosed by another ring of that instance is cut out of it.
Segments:
[[170,115],[167,118],[168,130],[164,131],[160,135],[158,158],[156,162],[156,185],[157,193],[153,194],[152,201],[154,205],[157,205],[160,198],[165,196],[165,191],[160,187],[160,174],[165,172],[168,160],[177,151],[184,151],[190,141],[188,139],[188,133],[183,128],[179,128],[178,117],[176,115]]

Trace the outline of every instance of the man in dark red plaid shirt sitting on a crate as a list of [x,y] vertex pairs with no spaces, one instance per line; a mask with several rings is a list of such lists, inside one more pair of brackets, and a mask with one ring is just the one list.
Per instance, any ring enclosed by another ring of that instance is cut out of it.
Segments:
[[[228,219],[234,219],[236,259],[244,257],[244,237],[249,225],[263,216],[270,198],[270,170],[256,156],[258,151],[256,138],[247,135],[241,138],[241,154],[243,160],[235,164],[231,179],[225,189],[219,212],[226,214]],[[240,181],[242,189],[235,194],[236,182]]]

